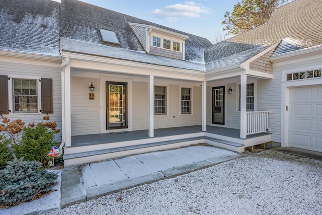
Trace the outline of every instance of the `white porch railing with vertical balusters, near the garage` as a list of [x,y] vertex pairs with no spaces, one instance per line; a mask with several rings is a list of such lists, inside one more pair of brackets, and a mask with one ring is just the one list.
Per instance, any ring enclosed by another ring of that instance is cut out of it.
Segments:
[[247,134],[268,131],[268,114],[270,112],[271,111],[247,112]]

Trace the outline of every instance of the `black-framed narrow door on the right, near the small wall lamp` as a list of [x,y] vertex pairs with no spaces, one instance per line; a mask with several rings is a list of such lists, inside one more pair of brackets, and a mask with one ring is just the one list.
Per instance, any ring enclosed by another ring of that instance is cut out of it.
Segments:
[[212,123],[225,124],[225,87],[212,88]]

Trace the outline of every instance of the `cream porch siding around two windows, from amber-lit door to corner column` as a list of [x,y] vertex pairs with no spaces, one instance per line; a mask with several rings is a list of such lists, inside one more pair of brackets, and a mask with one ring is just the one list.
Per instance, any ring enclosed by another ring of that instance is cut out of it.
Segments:
[[[156,80],[155,86],[167,87],[167,114],[154,115],[154,128],[201,125],[202,92],[192,83],[171,81],[172,84]],[[177,83],[177,84],[174,84]],[[148,129],[148,83],[132,82],[133,130]],[[180,88],[192,89],[192,113],[181,114]]]

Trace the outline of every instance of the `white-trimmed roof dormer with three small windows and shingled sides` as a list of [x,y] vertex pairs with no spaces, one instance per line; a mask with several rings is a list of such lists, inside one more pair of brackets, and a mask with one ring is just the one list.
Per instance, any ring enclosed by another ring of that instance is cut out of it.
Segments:
[[146,53],[185,59],[185,40],[189,36],[152,25],[129,23]]

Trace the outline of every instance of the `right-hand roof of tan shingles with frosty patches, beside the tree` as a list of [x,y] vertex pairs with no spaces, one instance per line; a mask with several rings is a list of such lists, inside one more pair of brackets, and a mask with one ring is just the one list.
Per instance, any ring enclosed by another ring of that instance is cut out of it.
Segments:
[[244,62],[282,40],[272,56],[322,44],[320,11],[321,0],[295,0],[277,9],[267,23],[206,48],[206,69]]

